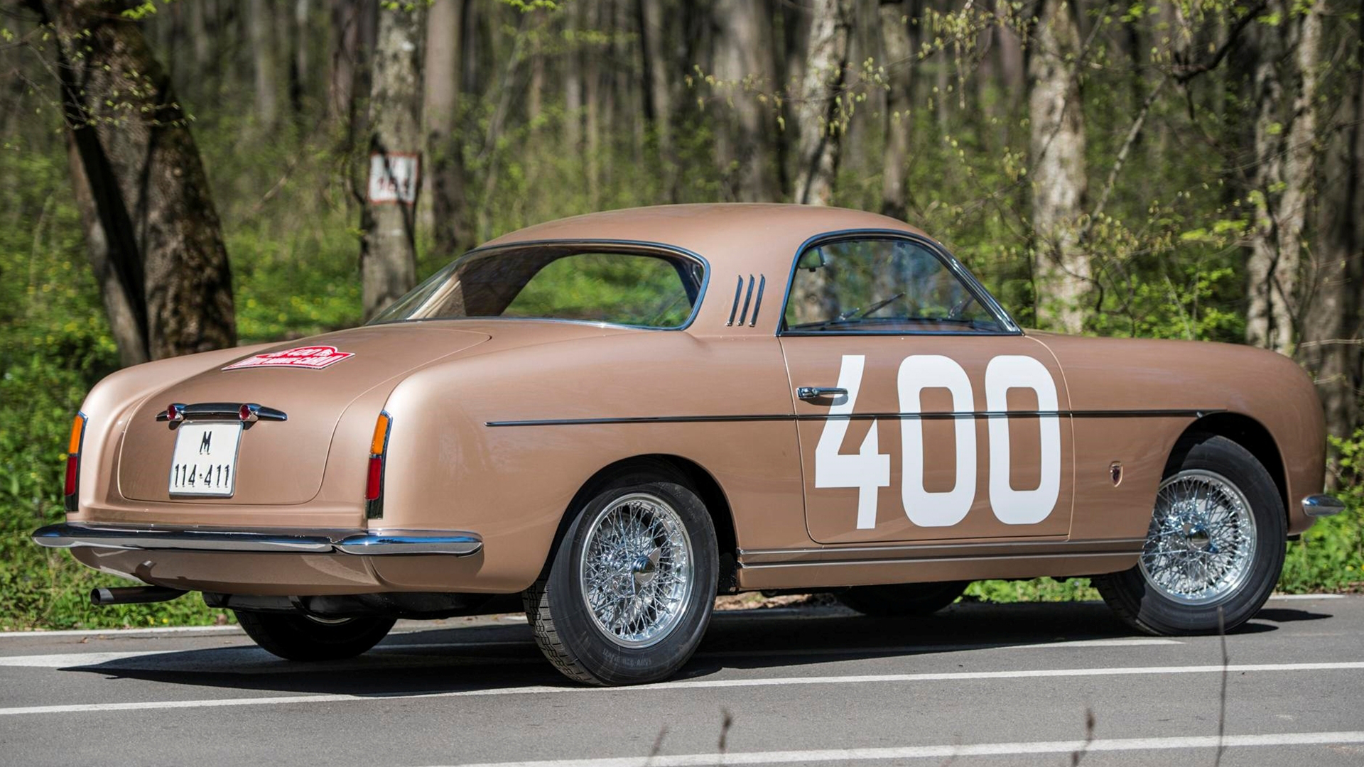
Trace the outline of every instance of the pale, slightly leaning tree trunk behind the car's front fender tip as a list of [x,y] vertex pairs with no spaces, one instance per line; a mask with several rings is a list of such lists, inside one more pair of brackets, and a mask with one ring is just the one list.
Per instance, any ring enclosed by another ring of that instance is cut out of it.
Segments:
[[[1320,61],[1320,0],[1301,15],[1277,0],[1279,23],[1259,25],[1255,67],[1255,228],[1247,263],[1245,340],[1292,355],[1300,317],[1303,227],[1307,222],[1316,150],[1316,76]],[[1279,53],[1292,50],[1292,56]],[[1282,60],[1282,63],[1281,63]],[[1281,68],[1282,67],[1282,68]],[[1282,111],[1285,87],[1292,112]]]

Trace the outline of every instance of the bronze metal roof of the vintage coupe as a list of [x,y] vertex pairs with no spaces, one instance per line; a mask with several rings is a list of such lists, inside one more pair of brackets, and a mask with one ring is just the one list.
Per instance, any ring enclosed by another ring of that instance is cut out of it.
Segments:
[[588,213],[527,227],[483,247],[537,240],[629,240],[681,247],[715,267],[784,269],[810,237],[848,229],[922,231],[904,221],[844,207],[727,202],[657,205]]

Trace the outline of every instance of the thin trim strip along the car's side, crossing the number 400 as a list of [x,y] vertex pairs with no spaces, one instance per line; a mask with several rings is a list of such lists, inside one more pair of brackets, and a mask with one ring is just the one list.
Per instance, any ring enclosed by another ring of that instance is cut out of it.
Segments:
[[754,415],[647,415],[625,418],[547,418],[528,420],[488,420],[484,426],[599,426],[604,423],[735,423],[761,420],[945,420],[953,418],[1203,418],[1226,412],[1224,408],[1196,409],[1112,409],[1112,411],[974,411],[974,412],[858,412],[828,414],[754,414]]

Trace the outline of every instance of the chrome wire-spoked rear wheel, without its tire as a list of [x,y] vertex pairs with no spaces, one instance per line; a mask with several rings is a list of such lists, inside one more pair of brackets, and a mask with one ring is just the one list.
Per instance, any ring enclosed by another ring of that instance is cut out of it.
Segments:
[[588,614],[611,641],[662,641],[692,598],[692,540],[682,517],[648,493],[612,501],[592,520],[578,577]]

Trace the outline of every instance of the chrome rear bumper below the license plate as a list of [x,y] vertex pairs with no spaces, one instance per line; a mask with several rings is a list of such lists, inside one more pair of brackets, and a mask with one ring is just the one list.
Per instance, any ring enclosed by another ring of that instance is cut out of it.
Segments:
[[468,557],[483,549],[472,532],[434,530],[232,530],[135,524],[49,524],[33,532],[49,549],[121,549],[172,551],[251,551],[293,554],[449,554]]

